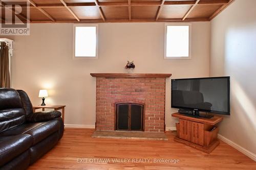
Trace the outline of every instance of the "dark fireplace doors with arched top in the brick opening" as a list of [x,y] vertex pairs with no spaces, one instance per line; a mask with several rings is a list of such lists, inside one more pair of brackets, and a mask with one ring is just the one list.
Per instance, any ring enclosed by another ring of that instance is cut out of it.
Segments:
[[116,104],[116,128],[121,131],[144,131],[143,105],[136,103]]

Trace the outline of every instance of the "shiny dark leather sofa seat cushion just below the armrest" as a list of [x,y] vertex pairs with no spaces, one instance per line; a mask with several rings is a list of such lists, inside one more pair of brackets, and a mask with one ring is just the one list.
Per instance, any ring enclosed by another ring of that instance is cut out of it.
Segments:
[[0,133],[1,136],[17,135],[17,134],[30,134],[33,138],[33,145],[47,138],[52,133],[58,131],[60,122],[56,119],[49,120],[48,122],[40,123],[27,123]]

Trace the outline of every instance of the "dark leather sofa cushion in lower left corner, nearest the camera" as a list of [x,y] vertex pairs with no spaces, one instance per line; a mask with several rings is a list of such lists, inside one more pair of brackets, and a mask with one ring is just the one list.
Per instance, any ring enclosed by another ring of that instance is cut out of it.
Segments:
[[29,134],[0,137],[0,166],[28,150],[33,139]]

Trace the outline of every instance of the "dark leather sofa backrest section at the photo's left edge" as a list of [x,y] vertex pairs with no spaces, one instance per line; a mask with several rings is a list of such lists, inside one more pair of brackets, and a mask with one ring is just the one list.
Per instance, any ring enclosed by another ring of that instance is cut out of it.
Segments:
[[26,116],[19,93],[15,89],[0,88],[0,132],[25,123]]

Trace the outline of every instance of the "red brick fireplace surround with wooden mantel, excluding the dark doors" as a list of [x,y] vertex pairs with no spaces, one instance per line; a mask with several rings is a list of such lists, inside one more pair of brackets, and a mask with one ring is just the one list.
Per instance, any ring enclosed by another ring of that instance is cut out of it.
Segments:
[[165,79],[171,74],[91,74],[96,77],[96,130],[116,130],[116,104],[142,104],[143,130],[164,132]]

